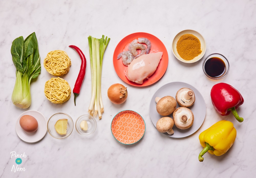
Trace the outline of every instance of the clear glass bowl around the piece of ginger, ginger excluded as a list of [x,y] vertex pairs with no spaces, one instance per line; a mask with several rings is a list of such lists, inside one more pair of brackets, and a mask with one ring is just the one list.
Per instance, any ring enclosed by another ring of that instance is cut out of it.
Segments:
[[[68,128],[67,128],[66,135],[60,135],[55,130],[54,125],[56,124],[56,122],[59,119],[67,119],[68,120]],[[54,138],[57,138],[57,139],[67,138],[73,131],[73,120],[66,113],[61,113],[61,112],[56,113],[49,118],[48,123],[47,123],[47,130],[48,130],[49,134]]]

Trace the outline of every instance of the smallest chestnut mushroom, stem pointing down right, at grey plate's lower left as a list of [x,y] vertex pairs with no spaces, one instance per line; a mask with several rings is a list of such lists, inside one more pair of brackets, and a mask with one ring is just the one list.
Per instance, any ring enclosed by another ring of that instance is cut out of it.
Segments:
[[172,135],[174,133],[173,126],[174,121],[171,117],[162,117],[156,123],[156,129],[158,130],[158,132],[167,132],[167,134],[169,135]]

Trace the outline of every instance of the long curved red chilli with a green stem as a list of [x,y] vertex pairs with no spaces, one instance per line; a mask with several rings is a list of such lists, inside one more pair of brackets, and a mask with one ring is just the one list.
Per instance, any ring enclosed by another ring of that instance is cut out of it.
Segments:
[[78,74],[78,77],[77,77],[77,80],[76,80],[76,83],[75,83],[75,86],[74,86],[74,89],[73,89],[73,93],[75,95],[74,96],[74,102],[75,102],[75,105],[76,105],[76,97],[80,93],[80,89],[82,87],[83,79],[84,79],[84,76],[85,76],[86,58],[85,58],[83,52],[77,46],[70,45],[69,47],[76,50],[76,52],[79,54],[79,56],[81,58],[81,61],[82,61],[80,71],[79,71],[79,74]]

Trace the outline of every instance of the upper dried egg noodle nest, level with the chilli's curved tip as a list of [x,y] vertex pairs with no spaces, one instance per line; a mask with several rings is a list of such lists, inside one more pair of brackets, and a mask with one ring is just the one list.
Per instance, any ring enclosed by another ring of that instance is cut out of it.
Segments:
[[55,50],[47,54],[44,60],[44,67],[54,76],[67,74],[71,65],[70,58],[65,51]]

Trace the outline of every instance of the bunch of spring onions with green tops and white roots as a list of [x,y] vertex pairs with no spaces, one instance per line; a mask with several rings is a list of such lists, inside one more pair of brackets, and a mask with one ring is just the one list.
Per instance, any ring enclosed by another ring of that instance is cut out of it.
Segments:
[[102,61],[109,41],[110,38],[104,38],[104,35],[102,35],[101,39],[88,37],[92,80],[92,93],[88,113],[92,116],[97,116],[98,114],[99,119],[102,118],[102,113],[104,112],[101,97]]

